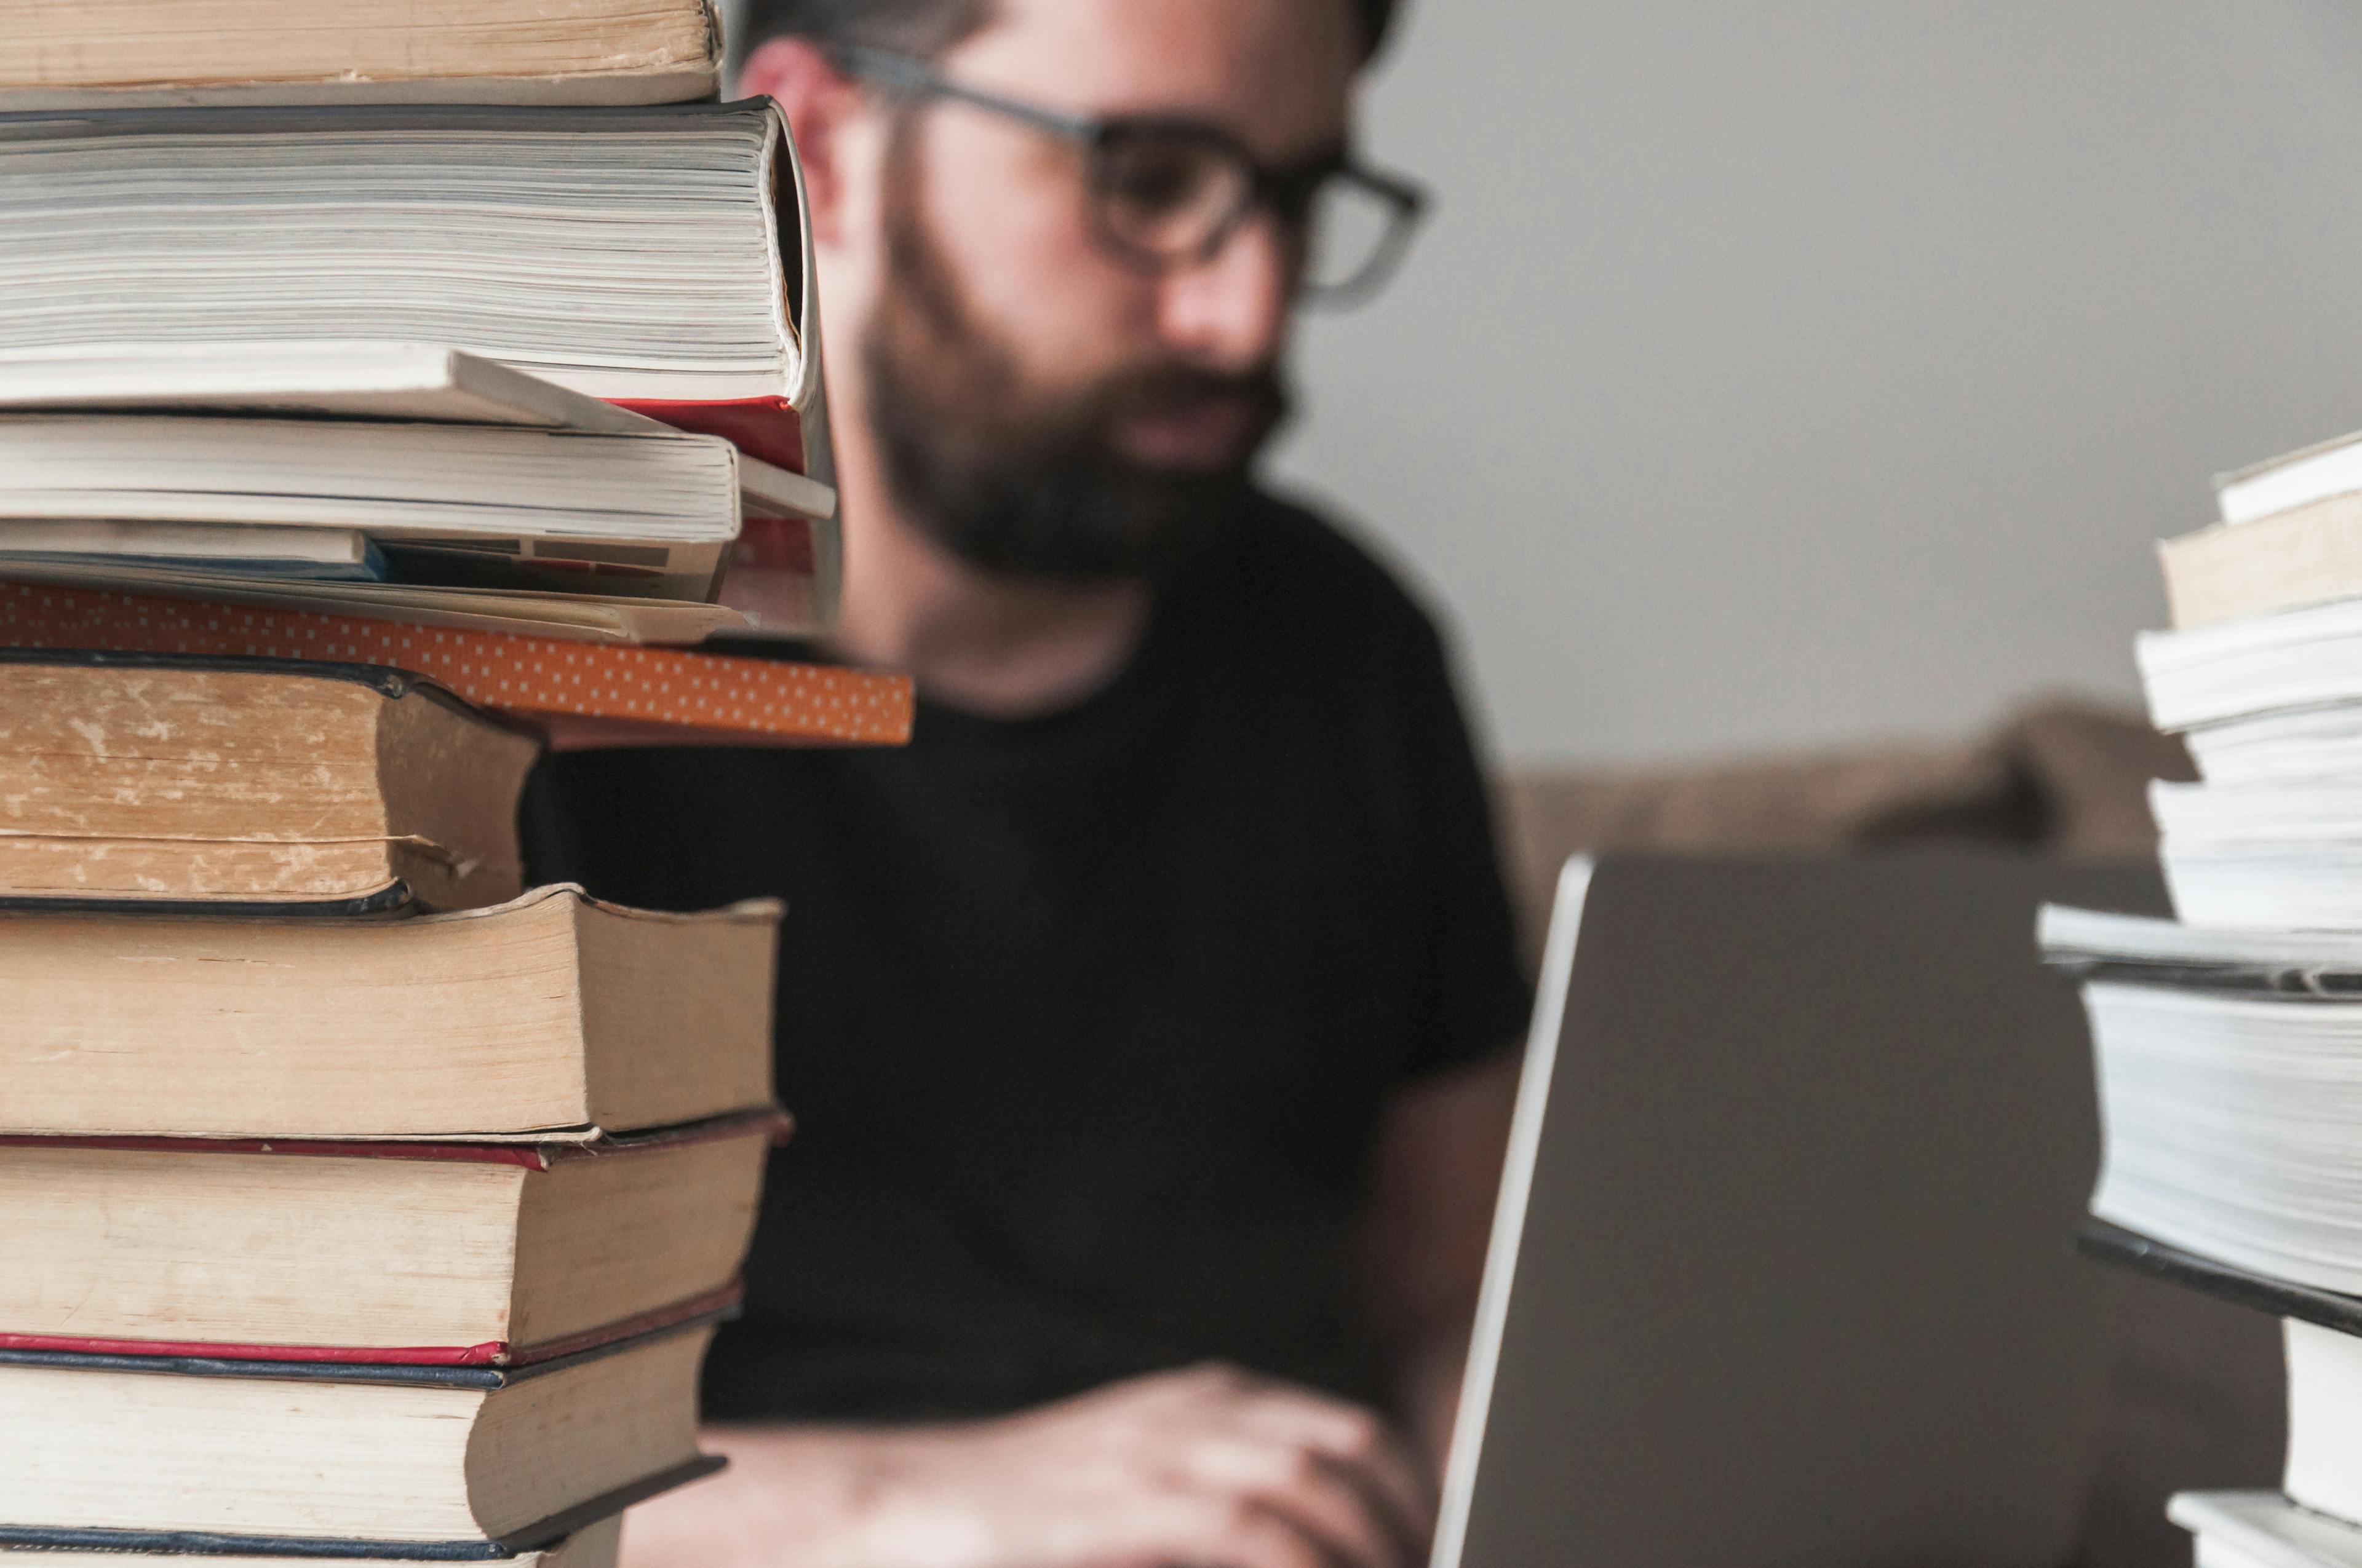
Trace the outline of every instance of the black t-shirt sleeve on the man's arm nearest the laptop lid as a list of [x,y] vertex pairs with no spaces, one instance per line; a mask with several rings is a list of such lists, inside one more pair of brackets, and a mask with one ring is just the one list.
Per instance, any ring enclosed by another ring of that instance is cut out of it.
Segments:
[[1417,1079],[1519,1041],[1533,992],[1516,956],[1483,772],[1443,640],[1424,616],[1405,654],[1401,734],[1424,975],[1401,1077]]

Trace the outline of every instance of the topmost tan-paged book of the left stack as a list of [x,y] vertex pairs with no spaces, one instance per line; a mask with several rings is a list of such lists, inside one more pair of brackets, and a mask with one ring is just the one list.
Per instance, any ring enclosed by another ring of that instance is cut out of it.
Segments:
[[0,109],[664,104],[713,92],[706,0],[17,0]]

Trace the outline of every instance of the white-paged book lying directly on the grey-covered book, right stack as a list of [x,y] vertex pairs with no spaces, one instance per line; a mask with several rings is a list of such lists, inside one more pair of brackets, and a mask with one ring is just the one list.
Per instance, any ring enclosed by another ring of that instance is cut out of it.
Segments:
[[2152,784],[2159,860],[2192,926],[2362,926],[2362,786]]

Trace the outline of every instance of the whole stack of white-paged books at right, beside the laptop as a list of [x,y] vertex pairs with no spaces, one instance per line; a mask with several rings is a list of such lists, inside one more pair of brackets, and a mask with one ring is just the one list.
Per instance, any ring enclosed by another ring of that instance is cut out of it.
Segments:
[[2178,921],[2045,909],[2079,971],[2105,1164],[2086,1247],[2282,1320],[2282,1492],[2185,1492],[2206,1568],[2362,1566],[2362,437],[2218,482],[2164,543],[2149,711]]

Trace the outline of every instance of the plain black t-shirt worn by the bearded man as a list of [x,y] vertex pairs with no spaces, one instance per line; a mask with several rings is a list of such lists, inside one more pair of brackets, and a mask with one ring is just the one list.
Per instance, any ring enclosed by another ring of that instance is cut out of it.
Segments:
[[779,895],[775,1155],[713,1417],[987,1415],[1224,1358],[1370,1396],[1346,1233],[1391,1091],[1523,1027],[1427,616],[1259,501],[1075,708],[902,751],[607,751],[541,881]]

